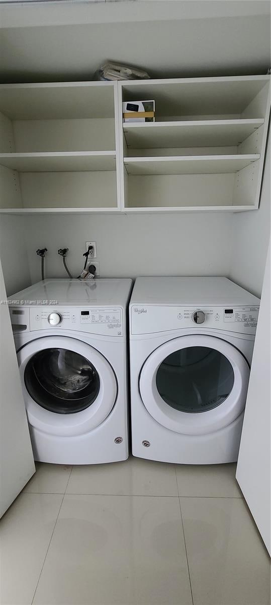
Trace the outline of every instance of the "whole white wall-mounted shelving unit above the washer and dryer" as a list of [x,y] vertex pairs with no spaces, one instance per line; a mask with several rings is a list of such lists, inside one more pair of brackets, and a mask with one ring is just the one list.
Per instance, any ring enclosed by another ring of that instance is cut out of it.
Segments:
[[0,85],[0,212],[257,209],[269,107],[269,76]]

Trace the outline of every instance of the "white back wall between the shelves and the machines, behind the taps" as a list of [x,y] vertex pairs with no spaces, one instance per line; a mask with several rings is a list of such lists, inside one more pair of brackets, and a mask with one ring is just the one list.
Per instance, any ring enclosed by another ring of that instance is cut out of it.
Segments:
[[27,219],[31,281],[40,280],[38,247],[46,246],[45,276],[66,277],[83,266],[85,242],[97,242],[101,277],[228,275],[231,214],[63,215]]

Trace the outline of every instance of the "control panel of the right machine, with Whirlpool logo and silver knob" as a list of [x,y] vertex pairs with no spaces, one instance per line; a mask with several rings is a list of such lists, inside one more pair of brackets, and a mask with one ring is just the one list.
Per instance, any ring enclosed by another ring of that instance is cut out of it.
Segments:
[[132,334],[154,334],[168,330],[200,329],[226,330],[254,335],[259,306],[191,307],[132,305],[130,327]]

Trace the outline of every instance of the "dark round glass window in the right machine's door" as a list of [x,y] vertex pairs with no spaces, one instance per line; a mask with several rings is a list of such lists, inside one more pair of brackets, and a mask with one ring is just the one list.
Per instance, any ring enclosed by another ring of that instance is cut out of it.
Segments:
[[229,360],[214,348],[185,347],[168,355],[156,373],[158,393],[167,405],[188,413],[213,410],[234,386]]

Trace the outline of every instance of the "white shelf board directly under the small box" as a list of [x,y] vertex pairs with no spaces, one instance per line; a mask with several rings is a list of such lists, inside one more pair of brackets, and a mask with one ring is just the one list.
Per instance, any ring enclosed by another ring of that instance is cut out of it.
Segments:
[[264,123],[257,120],[185,120],[124,123],[128,147],[215,147],[238,145]]

